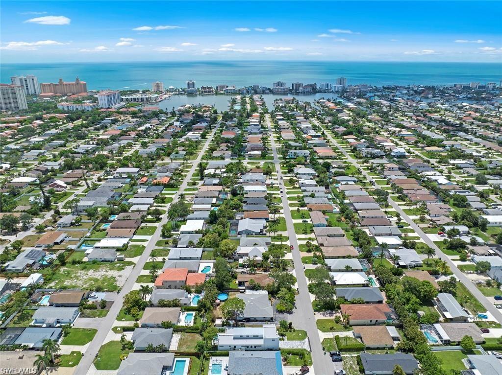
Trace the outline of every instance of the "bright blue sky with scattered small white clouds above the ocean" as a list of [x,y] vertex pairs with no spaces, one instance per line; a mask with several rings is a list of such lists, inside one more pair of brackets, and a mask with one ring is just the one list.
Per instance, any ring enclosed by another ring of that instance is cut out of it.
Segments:
[[502,62],[502,3],[2,1],[3,63]]

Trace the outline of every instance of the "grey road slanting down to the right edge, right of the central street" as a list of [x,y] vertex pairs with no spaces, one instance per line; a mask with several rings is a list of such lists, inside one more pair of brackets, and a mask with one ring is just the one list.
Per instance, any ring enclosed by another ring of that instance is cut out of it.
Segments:
[[[350,156],[350,154],[341,147],[338,142],[336,141],[335,138],[333,138],[330,134],[325,132],[327,137],[331,142],[333,142],[336,147],[347,157],[347,160],[351,162],[353,165],[356,167],[360,167],[360,165],[357,163],[357,161]],[[362,174],[367,178],[368,181],[374,182],[373,178],[364,170],[361,169]],[[453,274],[458,278],[458,280],[465,285],[465,287],[469,290],[469,292],[472,293],[474,298],[476,298],[481,304],[486,308],[487,311],[489,311],[495,319],[500,323],[502,322],[502,313],[495,307],[493,304],[477,289],[477,287],[470,281],[458,268],[455,266],[455,264],[448,258],[437,246],[436,244],[427,237],[427,235],[420,229],[420,227],[415,224],[415,222],[410,219],[408,215],[405,214],[405,212],[399,207],[396,202],[394,202],[390,197],[389,197],[389,204],[392,206],[394,210],[399,212],[401,214],[401,217],[408,223],[410,226],[413,228],[415,232],[420,236],[420,238],[431,248],[433,248],[436,251],[436,257],[446,261],[448,266],[450,267],[451,271]]]

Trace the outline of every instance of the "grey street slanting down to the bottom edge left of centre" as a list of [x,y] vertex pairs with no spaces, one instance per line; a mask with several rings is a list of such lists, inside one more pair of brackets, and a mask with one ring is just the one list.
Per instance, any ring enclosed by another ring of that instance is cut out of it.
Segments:
[[[219,126],[219,125],[218,125]],[[174,196],[173,202],[175,203],[179,200],[179,196],[181,193],[184,192],[184,190],[188,186],[188,182],[190,182],[190,178],[192,177],[193,173],[195,172],[198,163],[202,160],[202,156],[204,155],[204,152],[206,151],[207,147],[209,146],[209,143],[211,142],[211,139],[214,136],[214,132],[218,128],[216,126],[211,134],[207,137],[206,142],[204,143],[204,146],[202,147],[202,150],[200,151],[199,155],[195,160],[193,160],[193,165],[190,168],[188,174],[186,175],[185,179],[180,185],[180,188],[178,190],[178,193]],[[171,204],[172,204],[171,203]],[[170,204],[170,205],[171,205]],[[80,363],[78,364],[77,368],[75,369],[74,375],[86,375],[89,372],[92,362],[94,361],[94,357],[97,355],[99,348],[101,345],[104,343],[104,340],[106,339],[106,336],[110,332],[110,329],[113,326],[113,323],[115,322],[116,316],[120,309],[122,308],[122,303],[123,303],[123,297],[129,293],[132,289],[134,284],[136,283],[136,279],[138,276],[141,274],[141,271],[143,270],[143,267],[145,263],[148,261],[150,257],[150,253],[152,250],[156,247],[157,241],[161,240],[161,232],[162,232],[162,226],[168,222],[167,218],[167,211],[170,207],[168,205],[166,207],[166,214],[161,219],[161,222],[159,223],[157,230],[153,234],[153,236],[150,238],[150,240],[147,243],[145,251],[143,251],[143,254],[141,255],[140,259],[136,263],[136,265],[133,268],[133,271],[129,275],[126,283],[122,286],[122,289],[117,295],[117,298],[115,299],[115,302],[113,302],[113,305],[111,305],[110,311],[108,311],[108,314],[103,318],[101,325],[94,336],[94,339],[91,341],[89,346],[87,347],[87,350],[84,353],[84,356],[80,360]]]

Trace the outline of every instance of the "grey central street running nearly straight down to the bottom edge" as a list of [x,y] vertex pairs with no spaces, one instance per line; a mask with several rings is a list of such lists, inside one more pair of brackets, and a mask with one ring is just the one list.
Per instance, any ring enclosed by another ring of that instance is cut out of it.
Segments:
[[310,301],[307,279],[305,278],[305,272],[303,270],[303,263],[300,256],[298,241],[296,240],[293,219],[291,218],[291,209],[289,207],[286,189],[281,180],[281,165],[279,157],[277,156],[276,143],[272,132],[272,126],[270,124],[270,115],[266,116],[266,121],[270,132],[270,143],[272,146],[272,154],[274,156],[273,161],[276,166],[277,177],[279,178],[281,193],[283,195],[282,205],[284,209],[284,218],[286,219],[286,227],[288,229],[288,239],[290,244],[293,245],[293,263],[295,266],[295,274],[298,282],[298,295],[296,296],[296,307],[293,311],[293,314],[295,315],[295,321],[301,321],[303,323],[301,326],[296,326],[295,328],[304,329],[307,331],[307,335],[310,341],[312,361],[314,363],[314,373],[318,375],[327,375],[333,373],[334,366],[333,362],[331,362],[330,356],[325,354],[322,350],[321,339],[319,337],[319,331],[317,330],[314,310],[312,308],[312,302]]

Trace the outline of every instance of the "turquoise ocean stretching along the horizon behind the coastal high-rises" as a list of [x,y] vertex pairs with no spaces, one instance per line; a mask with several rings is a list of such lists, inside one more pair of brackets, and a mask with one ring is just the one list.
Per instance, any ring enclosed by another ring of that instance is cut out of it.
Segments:
[[89,90],[146,89],[152,82],[164,87],[185,87],[193,80],[198,87],[220,84],[237,87],[284,81],[335,83],[347,78],[347,84],[452,85],[467,82],[498,82],[502,79],[499,63],[417,63],[417,62],[114,62],[1,64],[0,82],[10,83],[14,75],[33,74],[39,82],[73,81],[79,77]]

